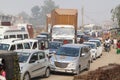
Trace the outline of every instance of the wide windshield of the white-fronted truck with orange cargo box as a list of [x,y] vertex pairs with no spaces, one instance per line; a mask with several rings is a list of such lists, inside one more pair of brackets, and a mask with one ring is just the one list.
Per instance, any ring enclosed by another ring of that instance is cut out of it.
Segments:
[[74,28],[70,27],[53,27],[52,32],[54,35],[74,35]]

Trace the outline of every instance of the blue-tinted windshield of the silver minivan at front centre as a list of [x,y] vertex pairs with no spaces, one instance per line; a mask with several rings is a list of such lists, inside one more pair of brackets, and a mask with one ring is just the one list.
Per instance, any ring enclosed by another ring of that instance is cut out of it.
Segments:
[[60,47],[56,55],[77,57],[79,55],[79,48]]

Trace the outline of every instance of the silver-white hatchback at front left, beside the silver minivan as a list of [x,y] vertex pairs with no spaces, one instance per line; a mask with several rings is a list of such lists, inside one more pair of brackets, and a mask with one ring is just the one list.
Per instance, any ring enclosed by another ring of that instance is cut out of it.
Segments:
[[31,80],[37,76],[50,76],[50,62],[44,51],[16,50],[19,56],[21,80]]

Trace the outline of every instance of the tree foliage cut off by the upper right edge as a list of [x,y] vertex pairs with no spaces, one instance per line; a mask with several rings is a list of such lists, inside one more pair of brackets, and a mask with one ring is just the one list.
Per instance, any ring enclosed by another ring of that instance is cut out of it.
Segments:
[[111,10],[112,20],[117,20],[117,23],[120,27],[120,5],[118,5],[115,9]]

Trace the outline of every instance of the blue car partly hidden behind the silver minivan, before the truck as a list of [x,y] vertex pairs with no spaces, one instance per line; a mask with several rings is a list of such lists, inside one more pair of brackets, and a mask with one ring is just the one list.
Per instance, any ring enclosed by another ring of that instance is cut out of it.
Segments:
[[51,41],[49,42],[49,53],[56,53],[57,49],[63,45],[63,42],[60,41]]

